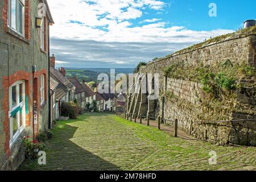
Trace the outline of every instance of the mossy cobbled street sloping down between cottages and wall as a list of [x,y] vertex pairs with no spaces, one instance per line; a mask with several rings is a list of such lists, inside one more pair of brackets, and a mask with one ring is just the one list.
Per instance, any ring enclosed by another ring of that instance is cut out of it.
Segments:
[[[216,146],[174,138],[166,131],[113,114],[59,121],[47,144],[47,164],[26,161],[19,170],[255,170],[255,147]],[[209,152],[217,164],[209,164]]]

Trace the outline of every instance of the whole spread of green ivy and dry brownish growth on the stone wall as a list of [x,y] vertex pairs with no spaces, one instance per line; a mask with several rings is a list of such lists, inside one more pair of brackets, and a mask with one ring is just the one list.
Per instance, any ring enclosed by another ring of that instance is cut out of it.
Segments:
[[233,64],[230,60],[216,67],[172,64],[164,70],[164,75],[179,80],[200,82],[205,96],[197,98],[196,105],[183,101],[170,90],[163,93],[162,97],[166,98],[167,102],[175,102],[180,109],[189,107],[201,121],[229,120],[232,118],[230,114],[238,105],[233,90],[256,85],[254,67],[245,63]]

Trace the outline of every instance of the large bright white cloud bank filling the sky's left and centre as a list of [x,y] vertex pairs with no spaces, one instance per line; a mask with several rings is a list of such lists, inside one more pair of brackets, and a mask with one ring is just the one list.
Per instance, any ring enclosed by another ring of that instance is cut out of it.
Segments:
[[[63,65],[71,63],[71,57],[72,60],[88,60],[90,63],[102,61],[106,65],[110,63],[108,61],[122,65],[134,64],[137,60],[150,59],[146,56],[148,52],[150,56],[164,56],[165,53],[177,51],[188,44],[191,46],[204,39],[232,32],[193,31],[186,27],[170,26],[159,18],[144,19],[140,23],[147,24],[143,26],[132,24],[132,20],[147,14],[147,9],[156,10],[155,14],[160,14],[164,8],[171,6],[170,3],[160,0],[48,0],[48,3],[55,20],[51,27],[51,38],[62,42],[72,40],[76,43],[72,47],[61,42],[51,43],[52,51],[63,55],[63,58],[59,55],[59,59],[65,61],[58,61],[58,64]],[[97,47],[90,49],[85,44],[90,41],[97,42],[93,44]],[[122,51],[119,48],[120,44],[115,43],[125,44],[123,48],[126,49],[123,51],[129,52],[130,55],[127,53],[115,56]],[[129,47],[126,44],[133,46]],[[82,51],[77,52],[77,49]],[[134,55],[134,51],[140,52]],[[112,54],[109,55],[109,52]]]

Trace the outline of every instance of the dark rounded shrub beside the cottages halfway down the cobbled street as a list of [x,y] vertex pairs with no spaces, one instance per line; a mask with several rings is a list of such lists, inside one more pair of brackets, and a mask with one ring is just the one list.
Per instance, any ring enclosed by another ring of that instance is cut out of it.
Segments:
[[61,115],[64,117],[69,117],[71,119],[76,119],[79,115],[79,106],[74,102],[63,102],[61,104]]

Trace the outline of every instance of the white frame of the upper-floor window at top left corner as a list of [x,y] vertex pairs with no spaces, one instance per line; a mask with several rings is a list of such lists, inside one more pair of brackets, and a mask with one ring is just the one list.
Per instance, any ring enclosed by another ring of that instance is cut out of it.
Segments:
[[[13,28],[11,22],[12,22],[12,11],[11,11],[11,5],[12,5],[12,1],[15,1],[15,28]],[[22,21],[21,26],[22,26],[22,30],[20,32],[20,24],[19,24],[19,5],[22,5],[22,14],[21,14],[21,18]],[[21,36],[25,36],[25,0],[8,0],[7,1],[7,26],[15,31],[17,34],[21,35]]]

